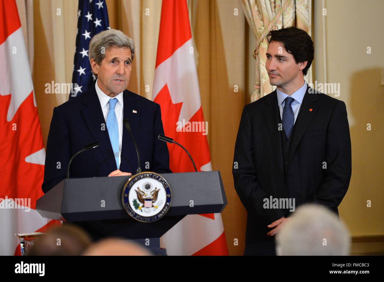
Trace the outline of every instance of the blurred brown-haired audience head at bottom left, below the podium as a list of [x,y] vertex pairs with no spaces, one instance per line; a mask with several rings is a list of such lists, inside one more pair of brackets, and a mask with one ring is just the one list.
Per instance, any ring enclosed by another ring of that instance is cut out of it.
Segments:
[[83,229],[68,225],[51,228],[31,247],[30,256],[79,256],[91,244]]

